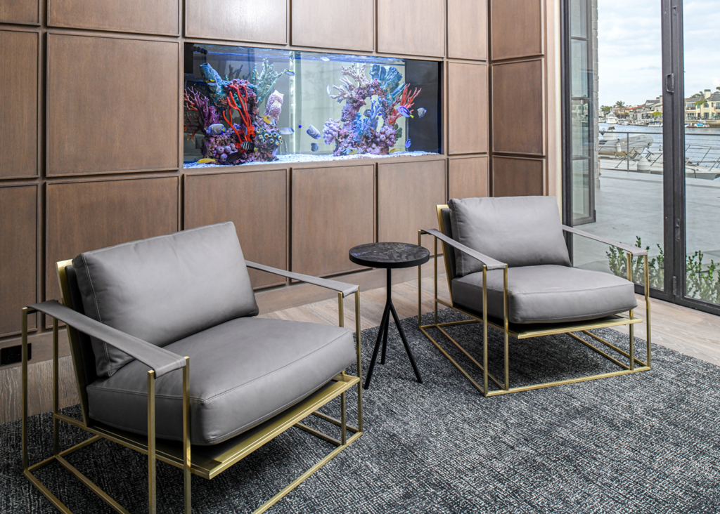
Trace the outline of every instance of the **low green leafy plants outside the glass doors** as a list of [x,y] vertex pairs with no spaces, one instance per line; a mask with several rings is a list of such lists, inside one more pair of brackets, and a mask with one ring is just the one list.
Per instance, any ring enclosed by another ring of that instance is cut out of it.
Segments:
[[[636,237],[635,246],[642,248],[642,239]],[[645,247],[649,250],[650,247]],[[657,244],[659,254],[647,262],[650,287],[665,288],[665,254]],[[605,252],[610,270],[618,277],[627,277],[626,253],[616,247]],[[690,298],[697,298],[710,303],[720,304],[720,262],[710,260],[710,265],[703,265],[703,252],[695,252],[687,256],[685,262],[685,288]],[[644,283],[644,257],[633,257],[631,260],[632,276],[636,283]]]

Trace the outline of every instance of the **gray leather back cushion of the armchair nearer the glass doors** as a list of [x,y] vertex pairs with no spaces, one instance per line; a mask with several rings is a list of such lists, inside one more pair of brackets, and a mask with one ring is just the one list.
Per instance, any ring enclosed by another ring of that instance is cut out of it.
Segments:
[[[448,202],[457,242],[510,267],[570,266],[554,196],[464,198]],[[482,271],[479,261],[456,254],[456,274]]]

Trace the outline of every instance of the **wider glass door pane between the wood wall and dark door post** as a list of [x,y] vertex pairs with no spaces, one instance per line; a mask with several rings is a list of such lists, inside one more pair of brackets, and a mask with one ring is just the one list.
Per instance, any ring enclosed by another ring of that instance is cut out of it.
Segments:
[[[566,8],[565,222],[649,249],[651,285],[664,292],[662,10],[657,0]],[[627,276],[624,254],[607,245],[575,237],[572,257]]]

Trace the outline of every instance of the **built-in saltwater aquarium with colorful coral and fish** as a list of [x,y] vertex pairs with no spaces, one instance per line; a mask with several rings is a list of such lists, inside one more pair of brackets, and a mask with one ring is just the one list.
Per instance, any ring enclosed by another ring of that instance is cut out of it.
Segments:
[[440,66],[186,43],[184,167],[439,153]]

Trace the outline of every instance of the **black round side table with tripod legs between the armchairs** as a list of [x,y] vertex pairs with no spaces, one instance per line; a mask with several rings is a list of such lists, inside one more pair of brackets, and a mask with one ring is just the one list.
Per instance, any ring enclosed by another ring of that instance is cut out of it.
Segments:
[[382,321],[377,329],[377,341],[375,341],[375,349],[372,352],[372,360],[370,361],[370,367],[367,370],[367,377],[365,378],[364,388],[370,387],[370,380],[372,380],[372,370],[374,370],[375,362],[377,361],[377,352],[380,348],[380,340],[382,339],[382,357],[380,364],[385,363],[385,351],[387,349],[387,329],[390,326],[390,314],[395,319],[395,325],[397,331],[400,332],[400,339],[402,344],[405,345],[405,352],[408,352],[410,357],[410,364],[413,364],[413,370],[415,370],[415,376],[418,377],[418,382],[423,383],[423,379],[420,377],[420,370],[418,365],[415,364],[415,357],[413,357],[413,351],[410,349],[408,344],[408,338],[405,337],[405,332],[402,331],[400,326],[400,319],[397,317],[395,306],[392,305],[392,270],[395,268],[402,267],[413,267],[423,265],[430,260],[430,252],[423,247],[418,247],[417,244],[408,243],[369,243],[361,244],[358,247],[350,249],[349,256],[350,260],[355,264],[367,267],[380,267],[387,269],[387,300],[385,300],[385,308],[382,313]]

